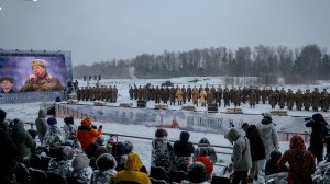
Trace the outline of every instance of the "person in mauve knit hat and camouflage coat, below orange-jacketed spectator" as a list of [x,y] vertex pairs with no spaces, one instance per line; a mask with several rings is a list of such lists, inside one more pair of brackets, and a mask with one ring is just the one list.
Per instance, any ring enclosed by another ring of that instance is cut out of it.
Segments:
[[69,146],[61,146],[55,149],[55,158],[51,159],[48,171],[64,177],[70,176],[72,161],[76,151]]

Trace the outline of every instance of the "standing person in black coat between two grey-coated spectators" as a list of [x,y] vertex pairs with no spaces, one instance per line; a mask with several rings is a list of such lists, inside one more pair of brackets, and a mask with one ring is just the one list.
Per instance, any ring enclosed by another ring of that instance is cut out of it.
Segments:
[[245,137],[250,140],[251,148],[252,168],[249,172],[249,181],[257,180],[260,170],[262,170],[262,168],[258,166],[258,162],[266,158],[265,146],[255,125],[244,123],[242,128],[245,131]]

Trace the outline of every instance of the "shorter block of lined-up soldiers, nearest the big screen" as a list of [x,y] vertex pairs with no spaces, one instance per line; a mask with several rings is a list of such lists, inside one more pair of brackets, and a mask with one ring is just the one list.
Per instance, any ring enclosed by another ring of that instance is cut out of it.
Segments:
[[77,99],[80,101],[117,102],[118,89],[113,87],[82,87],[77,90]]

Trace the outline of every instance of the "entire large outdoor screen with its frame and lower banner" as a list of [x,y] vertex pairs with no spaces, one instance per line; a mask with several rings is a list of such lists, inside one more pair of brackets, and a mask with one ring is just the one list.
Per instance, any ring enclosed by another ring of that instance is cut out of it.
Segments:
[[70,51],[0,53],[0,103],[65,99],[70,80]]

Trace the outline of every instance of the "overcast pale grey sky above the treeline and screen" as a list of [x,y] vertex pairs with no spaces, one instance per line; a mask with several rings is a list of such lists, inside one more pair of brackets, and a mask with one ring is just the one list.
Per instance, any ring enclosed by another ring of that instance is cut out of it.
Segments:
[[73,65],[263,44],[330,49],[330,0],[0,0],[0,48],[72,50]]

